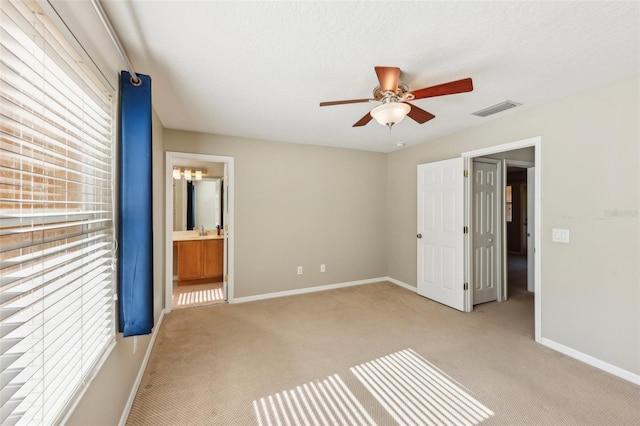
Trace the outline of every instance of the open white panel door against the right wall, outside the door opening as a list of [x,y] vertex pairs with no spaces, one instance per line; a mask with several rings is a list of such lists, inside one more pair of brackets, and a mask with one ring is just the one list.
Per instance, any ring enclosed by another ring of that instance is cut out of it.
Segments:
[[418,294],[464,311],[463,159],[418,165]]

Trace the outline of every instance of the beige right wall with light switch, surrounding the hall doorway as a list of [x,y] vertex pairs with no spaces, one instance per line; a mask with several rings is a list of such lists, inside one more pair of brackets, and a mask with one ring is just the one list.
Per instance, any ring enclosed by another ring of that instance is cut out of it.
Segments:
[[418,164],[541,136],[542,337],[640,374],[639,94],[635,77],[389,154],[388,275],[416,285]]

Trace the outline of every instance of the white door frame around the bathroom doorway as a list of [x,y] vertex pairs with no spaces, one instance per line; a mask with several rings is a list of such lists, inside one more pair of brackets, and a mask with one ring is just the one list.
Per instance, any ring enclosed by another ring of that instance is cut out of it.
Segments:
[[[224,157],[220,155],[194,154],[189,152],[167,151],[165,153],[165,297],[164,309],[166,313],[173,309],[173,166],[177,159],[206,161],[209,163],[224,163],[226,165],[225,178],[227,179],[227,210],[228,216],[225,222],[226,238],[224,239],[224,252],[226,258],[226,275],[225,282],[227,289],[227,302],[233,303],[234,299],[234,218],[233,218],[233,200],[234,200],[234,179],[233,179],[233,157]],[[228,228],[227,228],[228,227]]]

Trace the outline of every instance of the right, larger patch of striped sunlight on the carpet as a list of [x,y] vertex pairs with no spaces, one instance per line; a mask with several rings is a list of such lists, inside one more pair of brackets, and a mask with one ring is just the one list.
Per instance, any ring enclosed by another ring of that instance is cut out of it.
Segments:
[[351,372],[399,425],[476,425],[494,415],[412,349],[358,365]]

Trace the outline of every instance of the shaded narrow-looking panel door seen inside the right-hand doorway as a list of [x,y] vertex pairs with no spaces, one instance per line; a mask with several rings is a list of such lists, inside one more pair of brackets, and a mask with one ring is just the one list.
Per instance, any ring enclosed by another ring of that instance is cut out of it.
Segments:
[[473,304],[498,298],[498,165],[473,162]]

